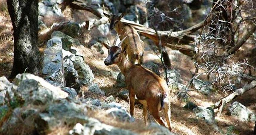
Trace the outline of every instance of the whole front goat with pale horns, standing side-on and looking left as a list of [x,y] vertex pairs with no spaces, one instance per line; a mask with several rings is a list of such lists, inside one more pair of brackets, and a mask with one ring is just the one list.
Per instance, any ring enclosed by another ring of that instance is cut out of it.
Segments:
[[122,39],[118,46],[115,46],[118,37],[115,38],[113,46],[104,44],[108,49],[108,57],[104,63],[106,66],[117,64],[125,76],[125,82],[129,89],[130,114],[133,116],[136,95],[140,103],[143,104],[145,123],[147,124],[147,109],[149,109],[155,120],[160,125],[165,126],[159,115],[159,111],[164,109],[166,122],[169,130],[171,130],[170,91],[166,81],[139,64],[133,65],[129,62],[125,56],[126,50],[121,49],[121,44],[127,36]]

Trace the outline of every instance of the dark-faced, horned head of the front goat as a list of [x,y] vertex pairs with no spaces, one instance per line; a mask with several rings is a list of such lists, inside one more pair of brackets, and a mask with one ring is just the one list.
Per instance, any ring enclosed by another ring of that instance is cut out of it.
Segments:
[[108,49],[108,56],[105,59],[104,63],[106,66],[116,64],[119,61],[119,57],[122,55],[122,53],[125,52],[125,49],[122,50],[121,45],[123,44],[124,40],[128,37],[124,37],[123,40],[118,44],[118,46],[115,46],[117,39],[120,35],[117,35],[115,37],[114,43],[112,46],[109,46],[108,44],[103,44]]

